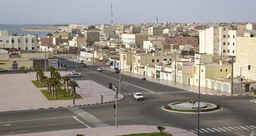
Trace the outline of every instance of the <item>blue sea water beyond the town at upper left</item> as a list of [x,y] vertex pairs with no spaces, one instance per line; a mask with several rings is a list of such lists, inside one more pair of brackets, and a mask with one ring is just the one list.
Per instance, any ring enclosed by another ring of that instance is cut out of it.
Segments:
[[[8,30],[9,35],[11,34],[37,34],[38,37],[46,37],[47,34],[53,31],[18,31],[21,28],[32,28],[32,27],[43,27],[43,26],[29,26],[29,25],[0,25],[0,30]],[[48,26],[49,27],[49,26]]]

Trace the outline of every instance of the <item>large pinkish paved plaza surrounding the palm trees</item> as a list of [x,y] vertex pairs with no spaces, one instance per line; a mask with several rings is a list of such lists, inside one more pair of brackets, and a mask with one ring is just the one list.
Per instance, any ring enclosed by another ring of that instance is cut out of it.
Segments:
[[[69,71],[59,71],[66,75]],[[27,74],[1,74],[0,78],[0,112],[19,111],[30,109],[62,108],[73,106],[73,100],[47,100],[40,90],[47,88],[36,88],[31,80],[36,80],[35,72]],[[50,77],[50,72],[45,73]],[[75,78],[76,80],[76,78]],[[76,99],[76,106],[95,105],[101,103],[101,94],[103,103],[113,102],[115,92],[90,80],[78,81],[80,88],[76,88],[78,94],[84,99]],[[122,99],[120,95],[118,99]]]

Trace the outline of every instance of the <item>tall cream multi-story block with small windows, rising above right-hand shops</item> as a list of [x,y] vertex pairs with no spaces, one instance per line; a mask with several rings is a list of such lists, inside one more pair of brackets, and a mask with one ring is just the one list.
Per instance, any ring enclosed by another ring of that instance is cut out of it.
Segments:
[[255,37],[255,30],[236,30],[233,27],[210,27],[199,32],[200,53],[236,56],[236,37],[248,34]]

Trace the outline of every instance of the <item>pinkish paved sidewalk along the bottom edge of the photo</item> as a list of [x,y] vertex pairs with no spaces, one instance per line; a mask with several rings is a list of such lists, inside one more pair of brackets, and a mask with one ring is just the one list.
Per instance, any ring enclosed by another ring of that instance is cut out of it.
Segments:
[[[84,134],[84,136],[120,136],[132,133],[153,133],[159,132],[153,125],[124,125],[118,127],[94,127],[74,130],[60,130],[39,133],[16,134],[12,136],[76,136],[76,134]],[[187,130],[175,127],[166,127],[164,132],[171,133],[173,136],[197,136]],[[6,135],[10,136],[10,135]]]

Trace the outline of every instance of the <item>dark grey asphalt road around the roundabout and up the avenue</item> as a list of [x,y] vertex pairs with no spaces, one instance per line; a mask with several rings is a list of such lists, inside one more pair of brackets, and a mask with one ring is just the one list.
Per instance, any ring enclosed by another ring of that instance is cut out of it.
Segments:
[[[72,71],[72,62],[67,59],[64,62],[69,65],[68,71]],[[93,81],[105,87],[112,82],[112,85],[119,88],[119,74],[110,71],[96,72],[98,67],[92,66]],[[82,66],[77,68],[78,71],[84,73],[76,80],[90,80],[90,73],[87,73],[90,72],[90,65],[87,65],[86,68]],[[76,67],[74,69],[76,70]],[[5,74],[8,73],[15,72],[6,72]],[[123,74],[121,79],[121,93],[124,94],[124,99],[118,101],[117,105],[118,125],[165,125],[196,131],[198,114],[172,113],[163,111],[161,107],[181,99],[197,100],[198,94]],[[136,101],[133,95],[130,95],[134,92],[147,92],[148,94],[143,95],[145,97],[143,101]],[[158,92],[169,93],[159,94]],[[253,136],[256,130],[256,105],[250,102],[250,99],[252,99],[251,96],[201,95],[201,102],[218,102],[224,109],[219,112],[200,114],[200,128],[201,132],[204,132],[200,135]],[[88,115],[89,113],[90,115]],[[115,125],[113,103],[81,106],[75,109],[2,112],[0,116],[0,135],[100,127],[102,124]]]

